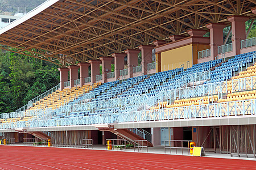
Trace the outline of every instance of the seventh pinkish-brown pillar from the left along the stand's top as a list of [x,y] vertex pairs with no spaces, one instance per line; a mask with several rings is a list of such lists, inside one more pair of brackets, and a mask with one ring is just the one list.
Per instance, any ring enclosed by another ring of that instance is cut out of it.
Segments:
[[138,66],[138,54],[141,50],[127,49],[125,53],[127,54],[127,66],[129,78],[133,77],[133,67]]

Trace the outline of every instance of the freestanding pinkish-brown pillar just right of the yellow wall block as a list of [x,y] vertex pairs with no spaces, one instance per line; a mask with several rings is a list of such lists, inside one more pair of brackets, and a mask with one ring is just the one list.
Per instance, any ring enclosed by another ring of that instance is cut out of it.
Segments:
[[210,23],[207,28],[210,29],[210,59],[214,60],[218,56],[218,46],[223,45],[223,29],[226,24]]

